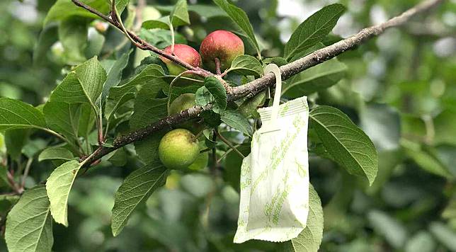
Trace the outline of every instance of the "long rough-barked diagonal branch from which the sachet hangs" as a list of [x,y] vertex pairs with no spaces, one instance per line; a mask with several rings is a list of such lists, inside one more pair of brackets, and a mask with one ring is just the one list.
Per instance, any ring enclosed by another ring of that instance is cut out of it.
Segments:
[[[79,2],[78,0],[72,0],[72,1],[75,3]],[[418,13],[424,13],[426,11],[429,11],[431,8],[437,6],[441,2],[443,2],[443,0],[423,1],[421,4],[418,4],[418,5],[414,6],[413,8],[410,8],[408,11],[405,11],[404,13],[402,13],[401,15],[399,15],[397,17],[389,19],[389,21],[386,21],[385,23],[382,23],[380,25],[375,25],[370,28],[365,28],[365,29],[361,30],[359,33],[357,33],[356,35],[351,36],[350,38],[346,38],[345,40],[336,42],[333,45],[329,45],[320,50],[317,50],[310,55],[307,55],[305,57],[302,57],[301,59],[298,59],[295,62],[285,64],[282,67],[280,67],[282,79],[284,79],[284,80],[288,79],[291,76],[300,73],[301,71],[314,67],[317,64],[321,64],[322,62],[326,62],[327,60],[332,59],[347,50],[351,50],[354,47],[361,45],[366,40],[369,40],[370,38],[373,38],[377,35],[382,34],[384,32],[384,30],[386,30],[387,28],[392,28],[392,27],[397,27],[397,26],[403,25],[404,23],[409,21],[413,16],[416,16]],[[83,8],[86,8],[86,7],[83,7]],[[86,8],[86,9],[89,10],[89,8]],[[93,13],[95,13],[95,12],[93,12]],[[98,16],[100,16],[100,15],[98,15]],[[101,16],[101,17],[103,18],[103,16]],[[112,22],[112,21],[110,21],[110,19],[107,21],[110,23]],[[113,24],[113,23],[111,23],[111,24]],[[130,35],[132,36],[132,38],[134,38],[137,41],[143,41],[134,34],[130,34]],[[147,45],[147,42],[145,42],[145,43],[140,42],[140,43],[142,45]],[[154,50],[158,50],[158,49],[155,48]],[[154,50],[152,50],[152,51],[154,51]],[[166,55],[161,50],[158,50],[158,52],[161,53],[161,55]],[[159,54],[158,52],[157,52],[157,54]],[[171,59],[171,60],[173,60],[173,59]],[[259,79],[249,82],[248,84],[244,84],[243,86],[237,86],[237,87],[232,88],[232,91],[229,92],[229,94],[228,94],[228,101],[235,101],[235,100],[237,100],[239,98],[243,98],[244,96],[247,96],[247,95],[255,95],[256,93],[263,91],[266,87],[273,86],[274,84],[275,84],[274,74],[271,74],[271,73],[266,74],[265,76],[263,76]],[[93,161],[101,159],[101,157],[105,156],[106,154],[110,153],[111,151],[114,151],[115,149],[119,149],[120,147],[123,147],[132,142],[140,141],[140,140],[144,139],[145,137],[153,134],[154,132],[163,130],[166,127],[171,128],[171,127],[173,127],[173,125],[179,125],[182,122],[186,122],[190,119],[198,118],[198,116],[200,115],[201,112],[203,112],[203,110],[209,110],[210,108],[211,108],[211,105],[207,105],[205,108],[197,105],[193,108],[189,108],[188,110],[183,110],[181,113],[178,113],[176,115],[169,115],[166,118],[158,120],[158,121],[152,123],[151,125],[149,125],[147,127],[143,127],[134,132],[131,132],[130,134],[118,137],[114,141],[114,147],[98,148],[91,155],[89,160],[86,161],[85,164],[86,164],[86,166],[89,166],[91,163],[93,163]]]

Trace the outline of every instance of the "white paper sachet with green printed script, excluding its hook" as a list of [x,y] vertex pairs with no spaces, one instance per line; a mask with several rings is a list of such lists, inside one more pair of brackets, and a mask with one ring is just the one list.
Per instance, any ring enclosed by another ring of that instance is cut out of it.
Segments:
[[263,126],[253,134],[251,154],[241,166],[235,243],[293,239],[306,227],[309,212],[307,97],[278,106],[275,120],[273,107],[258,113]]

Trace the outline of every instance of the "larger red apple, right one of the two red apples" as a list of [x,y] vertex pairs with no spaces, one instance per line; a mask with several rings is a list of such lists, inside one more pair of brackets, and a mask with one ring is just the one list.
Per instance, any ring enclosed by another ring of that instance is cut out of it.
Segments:
[[227,30],[216,30],[201,42],[200,54],[203,63],[210,71],[215,71],[215,58],[220,61],[220,70],[231,67],[233,60],[244,55],[244,42]]

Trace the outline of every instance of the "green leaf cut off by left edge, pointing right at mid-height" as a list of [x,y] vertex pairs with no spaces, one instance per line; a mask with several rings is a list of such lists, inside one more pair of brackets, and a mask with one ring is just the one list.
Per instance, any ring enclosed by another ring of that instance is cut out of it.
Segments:
[[45,117],[37,108],[11,98],[0,98],[0,131],[46,127]]

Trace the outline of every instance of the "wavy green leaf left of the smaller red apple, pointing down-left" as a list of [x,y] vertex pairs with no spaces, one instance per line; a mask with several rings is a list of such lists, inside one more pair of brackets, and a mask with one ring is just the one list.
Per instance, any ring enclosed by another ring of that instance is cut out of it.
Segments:
[[164,75],[163,68],[158,64],[149,64],[126,84],[110,88],[105,107],[106,118],[110,118],[122,104],[135,97],[137,86],[147,86],[149,88],[149,96],[154,98],[161,88],[167,86],[162,79]]

